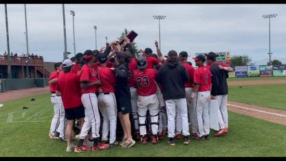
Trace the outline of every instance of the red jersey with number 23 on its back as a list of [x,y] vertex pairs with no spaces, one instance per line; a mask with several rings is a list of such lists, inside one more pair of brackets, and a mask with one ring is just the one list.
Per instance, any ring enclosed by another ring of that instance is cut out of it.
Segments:
[[135,69],[133,78],[136,81],[138,96],[149,96],[157,92],[155,69]]

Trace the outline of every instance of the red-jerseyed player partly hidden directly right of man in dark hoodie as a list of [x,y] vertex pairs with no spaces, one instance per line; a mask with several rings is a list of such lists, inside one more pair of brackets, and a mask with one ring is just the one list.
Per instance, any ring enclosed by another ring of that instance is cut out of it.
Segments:
[[[193,82],[194,82],[194,73],[195,69],[192,67],[192,65],[189,65],[187,63],[188,60],[188,53],[187,52],[180,52],[179,53],[179,63],[184,65],[186,67],[186,71],[188,72],[188,76],[190,80],[185,83],[185,91],[186,91],[186,98],[187,98],[187,106],[188,106],[188,122],[191,124],[191,130],[192,134],[191,136],[197,137],[197,120],[195,119],[195,108],[192,103],[188,101],[190,99],[190,96],[192,96],[192,87],[193,87]],[[178,117],[179,118],[179,117]],[[180,121],[177,121],[179,124]],[[181,125],[176,125],[176,127],[179,127]]]

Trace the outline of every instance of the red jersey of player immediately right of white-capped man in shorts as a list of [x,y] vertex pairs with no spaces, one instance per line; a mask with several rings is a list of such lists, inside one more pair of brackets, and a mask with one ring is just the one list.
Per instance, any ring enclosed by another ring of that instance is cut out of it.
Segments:
[[[80,70],[80,82],[87,81],[88,83],[98,81],[98,68],[94,64],[92,67],[85,64]],[[87,88],[82,88],[81,93],[94,93],[98,89],[98,85],[93,85]]]

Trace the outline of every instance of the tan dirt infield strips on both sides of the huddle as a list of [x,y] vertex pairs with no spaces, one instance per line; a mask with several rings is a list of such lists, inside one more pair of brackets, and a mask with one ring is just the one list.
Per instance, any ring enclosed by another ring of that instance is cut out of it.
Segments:
[[[228,85],[258,85],[258,84],[277,84],[286,83],[286,80],[275,81],[230,81]],[[0,93],[0,103],[6,100],[12,100],[21,98],[24,96],[30,96],[35,94],[43,94],[49,92],[49,87],[29,88],[12,90],[8,92]],[[234,111],[239,114],[245,114],[271,122],[276,122],[282,125],[286,125],[286,111],[279,109],[271,109],[267,107],[260,107],[256,105],[248,105],[245,103],[236,103],[228,100],[228,110]]]

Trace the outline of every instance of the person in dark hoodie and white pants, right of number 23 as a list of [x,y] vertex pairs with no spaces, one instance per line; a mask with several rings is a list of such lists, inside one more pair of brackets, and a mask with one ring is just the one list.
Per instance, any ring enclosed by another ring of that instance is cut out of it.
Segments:
[[[168,144],[175,145],[175,115],[179,111],[181,116],[184,144],[189,144],[188,109],[184,83],[188,81],[188,73],[184,65],[178,63],[175,50],[168,52],[167,62],[157,71],[156,81],[162,85],[163,97],[166,103],[168,117]],[[175,91],[175,92],[174,92]]]

